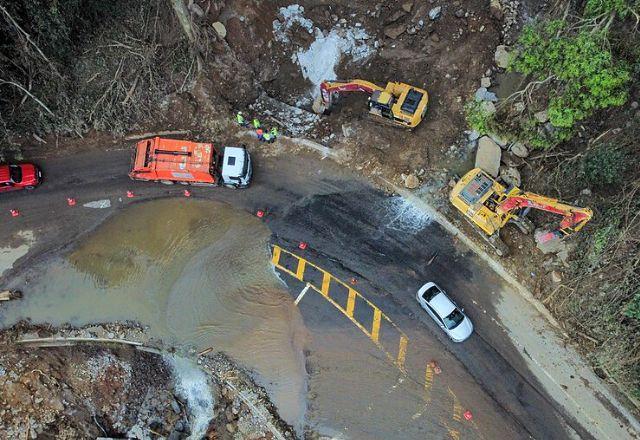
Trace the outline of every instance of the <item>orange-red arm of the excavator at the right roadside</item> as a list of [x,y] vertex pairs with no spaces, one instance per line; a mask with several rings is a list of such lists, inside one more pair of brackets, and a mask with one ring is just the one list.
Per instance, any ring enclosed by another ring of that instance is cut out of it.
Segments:
[[528,192],[507,196],[497,206],[496,211],[500,214],[506,214],[520,208],[533,208],[561,215],[563,218],[560,227],[553,232],[554,235],[560,237],[579,231],[593,217],[593,211],[589,208],[578,208],[550,197]]

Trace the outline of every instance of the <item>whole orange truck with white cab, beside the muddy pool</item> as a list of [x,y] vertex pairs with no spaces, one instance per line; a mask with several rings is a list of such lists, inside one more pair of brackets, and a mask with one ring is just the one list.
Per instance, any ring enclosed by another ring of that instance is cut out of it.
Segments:
[[129,177],[166,184],[246,188],[252,174],[251,157],[244,146],[218,151],[211,143],[155,137],[137,143]]

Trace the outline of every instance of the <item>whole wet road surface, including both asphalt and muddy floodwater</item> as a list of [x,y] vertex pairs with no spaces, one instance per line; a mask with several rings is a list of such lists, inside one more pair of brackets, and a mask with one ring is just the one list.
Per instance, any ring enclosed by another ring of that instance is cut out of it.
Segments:
[[[21,317],[135,319],[168,342],[229,352],[256,372],[285,419],[344,438],[568,437],[565,425],[575,423],[493,318],[503,282],[410,204],[313,156],[257,159],[251,189],[196,189],[192,199],[180,188],[132,184],[125,158],[115,151],[51,161],[45,173],[57,181],[0,202],[19,206],[20,228],[36,237],[5,277],[25,300],[0,309],[3,326]],[[96,161],[104,164],[98,175],[78,171]],[[65,206],[71,181],[79,204],[108,198],[112,208]],[[131,187],[136,198],[127,200]],[[264,221],[256,209],[267,209]],[[2,237],[15,230],[0,224]],[[406,372],[317,292],[294,306],[304,283],[278,280],[269,243],[356,279],[409,338]],[[466,308],[476,325],[469,341],[451,343],[419,309],[415,290],[427,280]],[[443,372],[429,377],[432,359]],[[473,420],[462,417],[466,409]]]

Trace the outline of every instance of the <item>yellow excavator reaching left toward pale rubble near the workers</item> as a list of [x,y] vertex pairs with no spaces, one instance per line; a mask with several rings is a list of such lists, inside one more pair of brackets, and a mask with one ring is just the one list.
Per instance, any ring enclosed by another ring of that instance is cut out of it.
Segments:
[[369,81],[323,81],[320,96],[313,103],[316,113],[326,114],[336,95],[346,92],[364,92],[369,96],[369,115],[380,122],[403,128],[414,128],[427,112],[429,95],[426,90],[409,84],[390,82],[385,88]]

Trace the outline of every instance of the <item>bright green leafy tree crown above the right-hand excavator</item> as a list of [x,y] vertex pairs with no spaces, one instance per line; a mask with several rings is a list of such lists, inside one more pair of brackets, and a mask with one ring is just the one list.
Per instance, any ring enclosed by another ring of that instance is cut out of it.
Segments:
[[626,101],[631,73],[613,61],[603,33],[570,34],[566,22],[554,20],[526,26],[519,45],[510,69],[554,80],[548,108],[554,127],[571,129],[595,110]]

